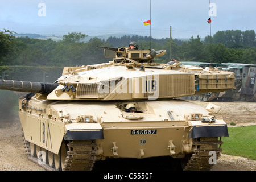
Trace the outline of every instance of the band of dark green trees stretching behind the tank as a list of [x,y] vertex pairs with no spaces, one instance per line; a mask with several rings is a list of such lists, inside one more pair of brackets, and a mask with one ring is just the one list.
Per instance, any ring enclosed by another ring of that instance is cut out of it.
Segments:
[[[254,30],[218,31],[212,37],[201,40],[198,35],[187,41],[170,38],[154,39],[147,36],[92,38],[84,42],[88,35],[72,32],[63,36],[61,41],[40,40],[16,37],[15,32],[0,31],[0,65],[28,66],[76,66],[98,64],[105,59],[104,50],[96,46],[128,46],[131,41],[139,44],[139,49],[167,50],[164,56],[156,57],[159,63],[178,61],[203,61],[213,63],[256,64],[256,40]],[[170,53],[171,47],[171,53]]]

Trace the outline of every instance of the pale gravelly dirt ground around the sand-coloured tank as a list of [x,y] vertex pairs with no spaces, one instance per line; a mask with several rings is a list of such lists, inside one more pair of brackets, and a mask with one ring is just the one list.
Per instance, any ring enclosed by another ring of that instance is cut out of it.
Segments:
[[[208,102],[196,102],[206,107]],[[256,125],[256,102],[212,102],[221,106],[217,117],[222,117],[230,126]],[[37,164],[27,160],[23,147],[21,125],[18,117],[3,118],[0,121],[0,171],[43,171]],[[213,166],[213,171],[256,171],[256,161],[222,154]]]

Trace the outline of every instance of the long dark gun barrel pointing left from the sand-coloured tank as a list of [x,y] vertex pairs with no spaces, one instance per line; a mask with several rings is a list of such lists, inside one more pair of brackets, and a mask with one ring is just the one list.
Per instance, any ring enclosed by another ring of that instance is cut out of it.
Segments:
[[1,90],[13,90],[18,92],[34,92],[48,95],[59,84],[31,82],[31,81],[16,81],[16,80],[0,80]]

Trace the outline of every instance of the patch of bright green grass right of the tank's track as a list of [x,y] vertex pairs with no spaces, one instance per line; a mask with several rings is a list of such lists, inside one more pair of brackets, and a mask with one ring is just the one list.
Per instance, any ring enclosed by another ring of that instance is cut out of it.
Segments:
[[222,137],[222,154],[256,160],[256,126],[228,127],[229,137]]

